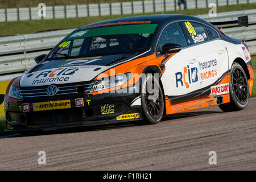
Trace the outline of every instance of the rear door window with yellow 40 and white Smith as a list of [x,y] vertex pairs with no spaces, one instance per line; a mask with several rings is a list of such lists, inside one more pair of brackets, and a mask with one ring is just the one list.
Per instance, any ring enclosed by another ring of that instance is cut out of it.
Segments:
[[207,34],[203,27],[203,24],[195,22],[183,22],[184,29],[188,32],[188,40],[194,44],[207,41]]

